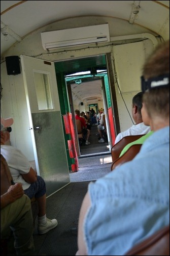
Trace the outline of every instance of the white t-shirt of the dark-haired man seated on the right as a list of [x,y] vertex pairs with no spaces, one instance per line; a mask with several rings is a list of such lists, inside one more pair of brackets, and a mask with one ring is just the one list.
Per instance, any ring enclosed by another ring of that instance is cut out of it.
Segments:
[[133,124],[128,130],[117,135],[115,139],[115,144],[118,143],[125,136],[147,134],[150,131],[150,126],[145,125],[143,122],[139,124]]

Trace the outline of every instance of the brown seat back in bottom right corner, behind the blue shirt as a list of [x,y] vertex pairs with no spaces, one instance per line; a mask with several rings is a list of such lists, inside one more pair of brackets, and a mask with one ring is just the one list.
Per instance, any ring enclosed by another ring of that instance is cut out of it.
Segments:
[[134,245],[125,255],[169,255],[169,225]]

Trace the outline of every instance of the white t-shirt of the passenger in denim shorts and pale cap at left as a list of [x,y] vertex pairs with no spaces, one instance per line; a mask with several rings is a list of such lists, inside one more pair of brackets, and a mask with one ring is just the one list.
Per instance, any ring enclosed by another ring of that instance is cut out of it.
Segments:
[[23,190],[29,188],[30,184],[21,175],[28,173],[31,167],[23,153],[16,147],[1,145],[1,154],[8,163],[14,182],[22,183]]

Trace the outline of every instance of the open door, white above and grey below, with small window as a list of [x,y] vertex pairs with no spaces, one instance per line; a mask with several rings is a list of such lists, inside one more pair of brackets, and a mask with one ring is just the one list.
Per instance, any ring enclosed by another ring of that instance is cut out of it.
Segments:
[[20,58],[36,168],[49,196],[70,183],[54,63]]

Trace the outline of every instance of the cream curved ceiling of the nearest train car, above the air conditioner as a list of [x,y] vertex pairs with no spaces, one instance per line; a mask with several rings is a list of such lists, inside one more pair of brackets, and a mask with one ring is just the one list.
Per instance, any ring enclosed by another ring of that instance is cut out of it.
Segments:
[[[139,13],[133,14],[134,9]],[[169,38],[169,1],[1,1],[1,54],[47,24],[81,16],[131,17],[135,24]],[[7,41],[2,32],[8,33]]]

